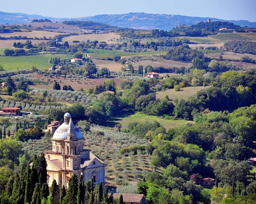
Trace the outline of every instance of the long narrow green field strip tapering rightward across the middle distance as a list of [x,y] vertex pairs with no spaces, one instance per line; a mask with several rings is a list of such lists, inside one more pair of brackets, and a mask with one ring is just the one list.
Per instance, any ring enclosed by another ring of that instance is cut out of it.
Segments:
[[166,52],[119,52],[119,51],[108,51],[108,50],[96,50],[96,49],[88,49],[89,52],[87,55],[90,57],[102,57],[102,58],[113,58],[116,55],[118,56],[131,56],[131,55],[165,55]]

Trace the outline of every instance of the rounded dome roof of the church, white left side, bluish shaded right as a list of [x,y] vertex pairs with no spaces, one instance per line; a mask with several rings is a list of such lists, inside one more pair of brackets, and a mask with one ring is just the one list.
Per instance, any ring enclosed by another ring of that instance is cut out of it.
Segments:
[[[65,113],[64,116],[71,116],[71,115],[70,115],[69,113]],[[73,124],[73,121],[72,121],[71,118],[70,118],[69,124],[63,123],[63,124],[61,124],[61,126],[59,126],[59,127],[55,130],[55,132],[54,132],[52,138],[53,138],[53,139],[65,140],[65,139],[66,139],[67,132],[69,132],[69,133],[76,133],[76,138],[77,138],[78,140],[84,139],[84,138],[83,138],[83,135],[82,135],[82,133],[81,133],[81,131],[78,129],[77,126],[75,126],[75,125]]]

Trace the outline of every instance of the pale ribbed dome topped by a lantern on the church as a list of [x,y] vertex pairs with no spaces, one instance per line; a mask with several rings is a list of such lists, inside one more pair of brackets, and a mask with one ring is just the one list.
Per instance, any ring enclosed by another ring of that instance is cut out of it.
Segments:
[[[71,117],[71,115],[69,113],[65,113],[65,115],[64,115],[64,123],[61,124],[61,126],[59,126],[55,130],[55,132],[53,134],[53,137],[52,137],[53,139],[59,139],[59,140],[65,140],[66,139],[67,131],[69,129],[69,125],[70,124],[69,123],[65,123],[65,117],[69,117],[69,116]],[[71,119],[71,122],[73,124],[72,119]],[[78,139],[78,140],[84,139],[83,135],[82,135],[81,131],[78,129],[78,127],[73,124],[73,128],[75,129],[75,132],[76,132],[76,139]]]

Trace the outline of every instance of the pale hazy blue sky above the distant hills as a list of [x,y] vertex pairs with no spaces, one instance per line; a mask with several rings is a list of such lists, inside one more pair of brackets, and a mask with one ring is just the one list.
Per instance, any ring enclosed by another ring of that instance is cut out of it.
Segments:
[[0,11],[49,17],[146,12],[256,22],[256,0],[1,0]]

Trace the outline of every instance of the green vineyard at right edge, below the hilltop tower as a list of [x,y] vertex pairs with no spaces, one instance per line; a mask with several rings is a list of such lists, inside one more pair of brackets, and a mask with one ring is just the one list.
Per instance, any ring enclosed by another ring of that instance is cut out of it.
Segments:
[[256,40],[256,33],[218,33],[210,37],[216,40]]

